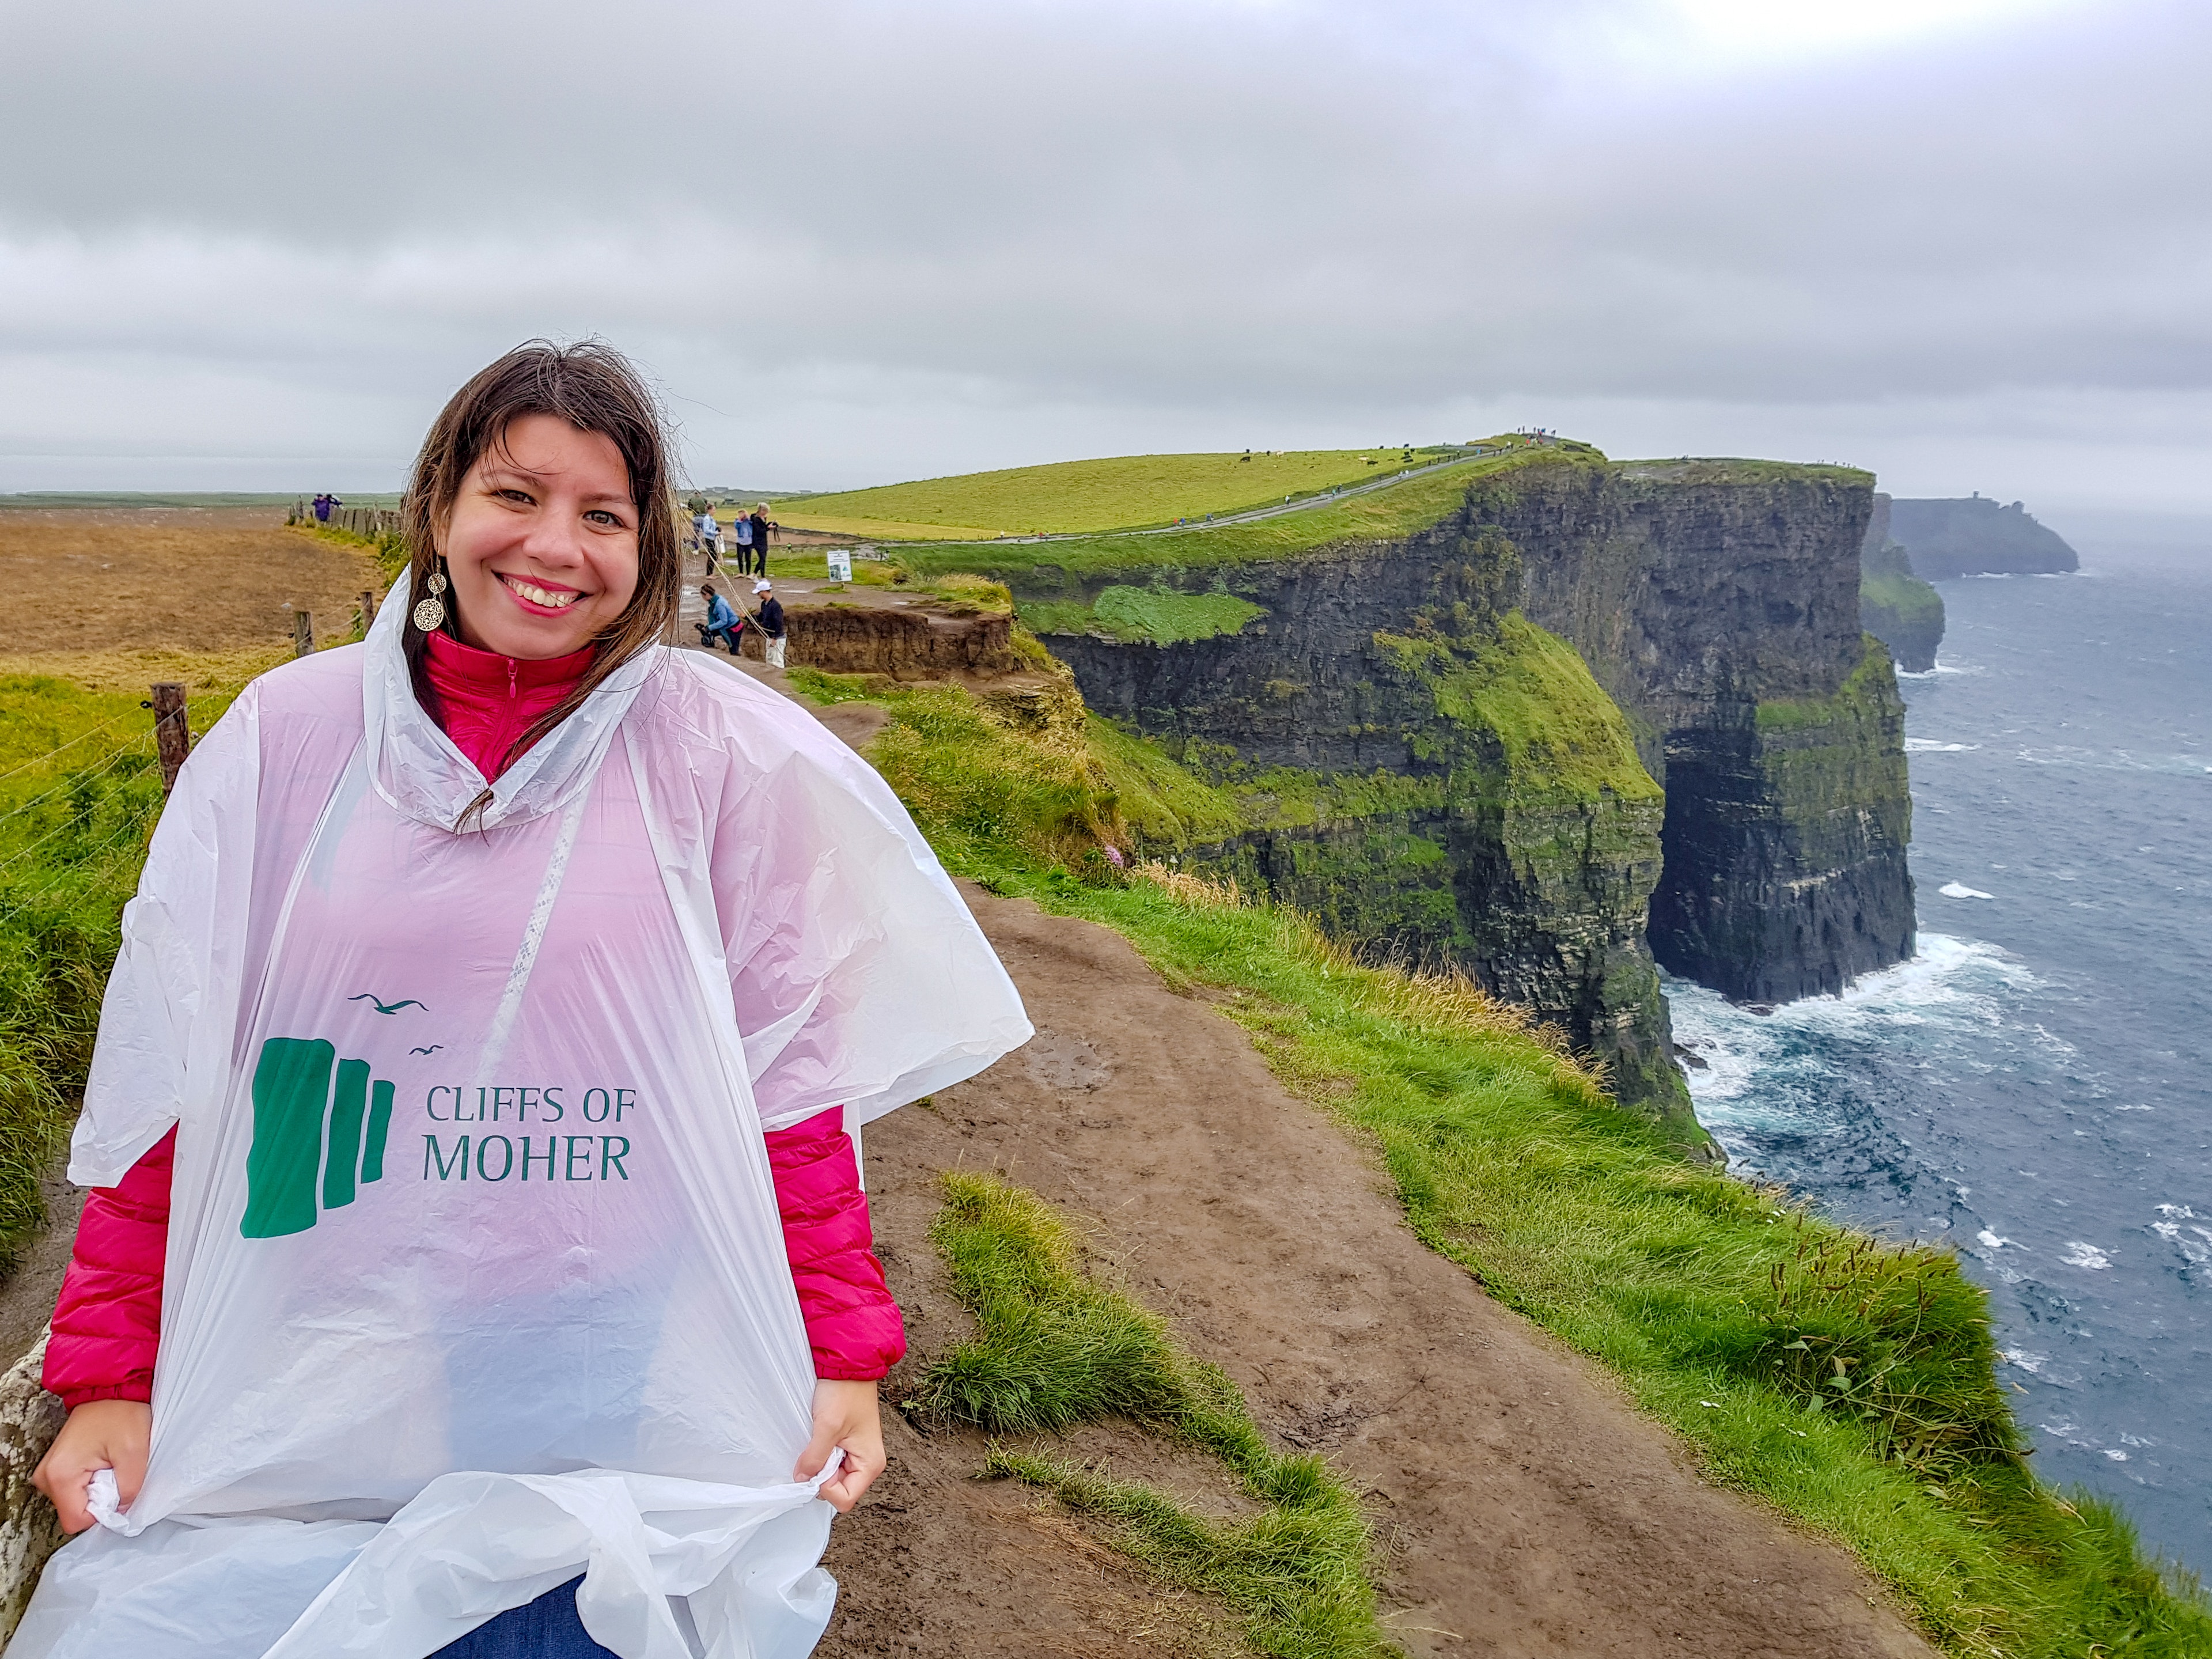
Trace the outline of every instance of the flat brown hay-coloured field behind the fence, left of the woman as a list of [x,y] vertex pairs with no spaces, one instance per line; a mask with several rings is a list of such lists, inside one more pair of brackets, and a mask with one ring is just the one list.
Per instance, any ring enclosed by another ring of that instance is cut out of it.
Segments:
[[294,611],[314,615],[316,644],[345,639],[363,588],[383,588],[365,553],[270,509],[0,511],[0,664],[13,672],[124,688],[199,679],[219,657],[228,677],[279,661]]

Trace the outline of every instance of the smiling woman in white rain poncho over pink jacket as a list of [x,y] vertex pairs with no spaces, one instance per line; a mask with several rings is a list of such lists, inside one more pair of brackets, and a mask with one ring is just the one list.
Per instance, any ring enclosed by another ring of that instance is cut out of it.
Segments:
[[403,602],[186,759],[44,1349],[35,1482],[102,1535],[15,1659],[186,1621],[208,1655],[812,1650],[905,1352],[847,1126],[1031,1033],[883,779],[661,644],[675,524],[637,372],[509,352],[422,445]]

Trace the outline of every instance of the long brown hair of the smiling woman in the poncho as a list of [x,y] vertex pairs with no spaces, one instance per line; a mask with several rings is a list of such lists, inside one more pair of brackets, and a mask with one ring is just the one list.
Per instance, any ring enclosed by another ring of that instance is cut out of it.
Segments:
[[[407,526],[407,626],[400,648],[407,653],[407,677],[416,701],[436,710],[429,686],[429,639],[414,624],[414,608],[429,597],[429,577],[438,568],[438,533],[445,529],[460,495],[460,482],[487,449],[504,442],[507,427],[520,416],[560,416],[577,431],[597,431],[622,451],[630,473],[630,502],[637,507],[637,593],[622,615],[593,637],[597,655],[584,677],[507,750],[504,761],[531,748],[568,719],[608,675],[659,639],[675,633],[684,588],[684,553],[675,520],[675,473],[670,467],[668,429],[644,376],[630,361],[604,341],[553,345],[526,341],[491,363],[438,411],[400,507]],[[445,591],[445,630],[460,637],[453,591]],[[471,810],[489,805],[489,790]],[[462,814],[467,821],[469,814]]]

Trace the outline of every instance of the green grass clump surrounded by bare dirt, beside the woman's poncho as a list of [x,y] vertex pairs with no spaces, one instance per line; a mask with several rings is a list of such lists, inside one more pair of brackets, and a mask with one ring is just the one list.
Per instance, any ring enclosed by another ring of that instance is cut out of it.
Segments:
[[1228,1374],[1177,1347],[1157,1314],[1084,1274],[1075,1230],[1033,1192],[956,1170],[945,1197],[931,1239],[978,1334],[929,1367],[911,1405],[993,1436],[1119,1416],[1210,1451],[1263,1504],[1259,1515],[1210,1522],[1150,1486],[1004,1444],[991,1447],[987,1473],[1104,1520],[1144,1566],[1221,1597],[1263,1655],[1378,1655],[1367,1520],[1345,1480],[1323,1458],[1276,1453]]

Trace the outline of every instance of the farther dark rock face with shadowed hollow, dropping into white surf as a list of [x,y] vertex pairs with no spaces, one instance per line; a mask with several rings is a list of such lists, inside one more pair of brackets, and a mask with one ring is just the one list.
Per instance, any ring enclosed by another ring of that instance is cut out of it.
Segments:
[[1524,467],[1469,491],[1666,787],[1650,947],[1745,1002],[1911,956],[1905,706],[1858,619],[1871,480],[1761,462]]

